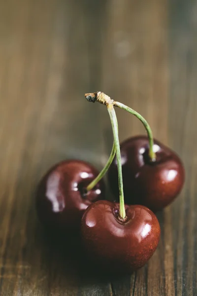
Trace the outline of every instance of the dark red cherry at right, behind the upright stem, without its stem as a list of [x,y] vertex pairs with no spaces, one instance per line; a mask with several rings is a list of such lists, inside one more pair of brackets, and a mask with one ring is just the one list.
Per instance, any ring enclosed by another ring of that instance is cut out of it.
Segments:
[[[145,205],[154,212],[162,210],[173,201],[183,187],[185,171],[180,158],[170,148],[154,140],[156,161],[151,163],[146,136],[132,137],[120,146],[126,203]],[[109,169],[108,181],[118,200],[116,159]]]

